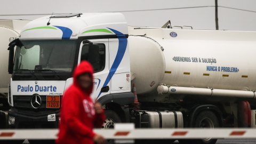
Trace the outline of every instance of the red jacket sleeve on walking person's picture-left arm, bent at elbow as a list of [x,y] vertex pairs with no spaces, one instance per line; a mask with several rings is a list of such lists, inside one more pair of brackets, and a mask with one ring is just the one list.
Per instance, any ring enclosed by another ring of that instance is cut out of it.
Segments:
[[90,127],[87,127],[79,119],[79,111],[81,109],[82,99],[76,93],[67,91],[62,98],[61,106],[61,122],[65,123],[67,127],[74,133],[93,138],[95,133]]

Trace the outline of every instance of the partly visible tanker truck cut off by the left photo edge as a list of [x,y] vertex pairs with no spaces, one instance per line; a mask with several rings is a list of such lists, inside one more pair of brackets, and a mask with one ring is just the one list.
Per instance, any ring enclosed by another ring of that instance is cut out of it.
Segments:
[[8,56],[6,49],[8,44],[19,37],[20,30],[28,23],[28,20],[0,20],[0,129],[6,128],[8,105],[8,84],[11,75],[8,74]]

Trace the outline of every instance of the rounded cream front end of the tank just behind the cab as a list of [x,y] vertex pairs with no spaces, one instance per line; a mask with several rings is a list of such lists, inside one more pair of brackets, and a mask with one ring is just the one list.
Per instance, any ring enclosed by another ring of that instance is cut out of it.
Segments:
[[131,74],[135,75],[132,83],[140,93],[157,89],[163,81],[165,60],[160,46],[150,38],[129,37]]

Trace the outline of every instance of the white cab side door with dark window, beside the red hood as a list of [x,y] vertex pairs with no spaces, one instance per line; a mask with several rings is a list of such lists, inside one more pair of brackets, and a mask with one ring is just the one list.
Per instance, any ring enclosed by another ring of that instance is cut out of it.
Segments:
[[[99,99],[103,95],[109,94],[109,53],[108,53],[108,39],[90,40],[92,44],[82,42],[78,63],[82,60],[89,61],[94,69],[93,91],[91,98],[93,100]],[[105,86],[103,86],[105,84]]]

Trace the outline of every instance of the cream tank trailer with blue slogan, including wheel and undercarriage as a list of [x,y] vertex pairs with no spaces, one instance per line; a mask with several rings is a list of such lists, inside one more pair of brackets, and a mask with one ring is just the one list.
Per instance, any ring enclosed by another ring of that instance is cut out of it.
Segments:
[[184,127],[255,127],[254,31],[130,27],[129,34],[142,110],[181,111]]

